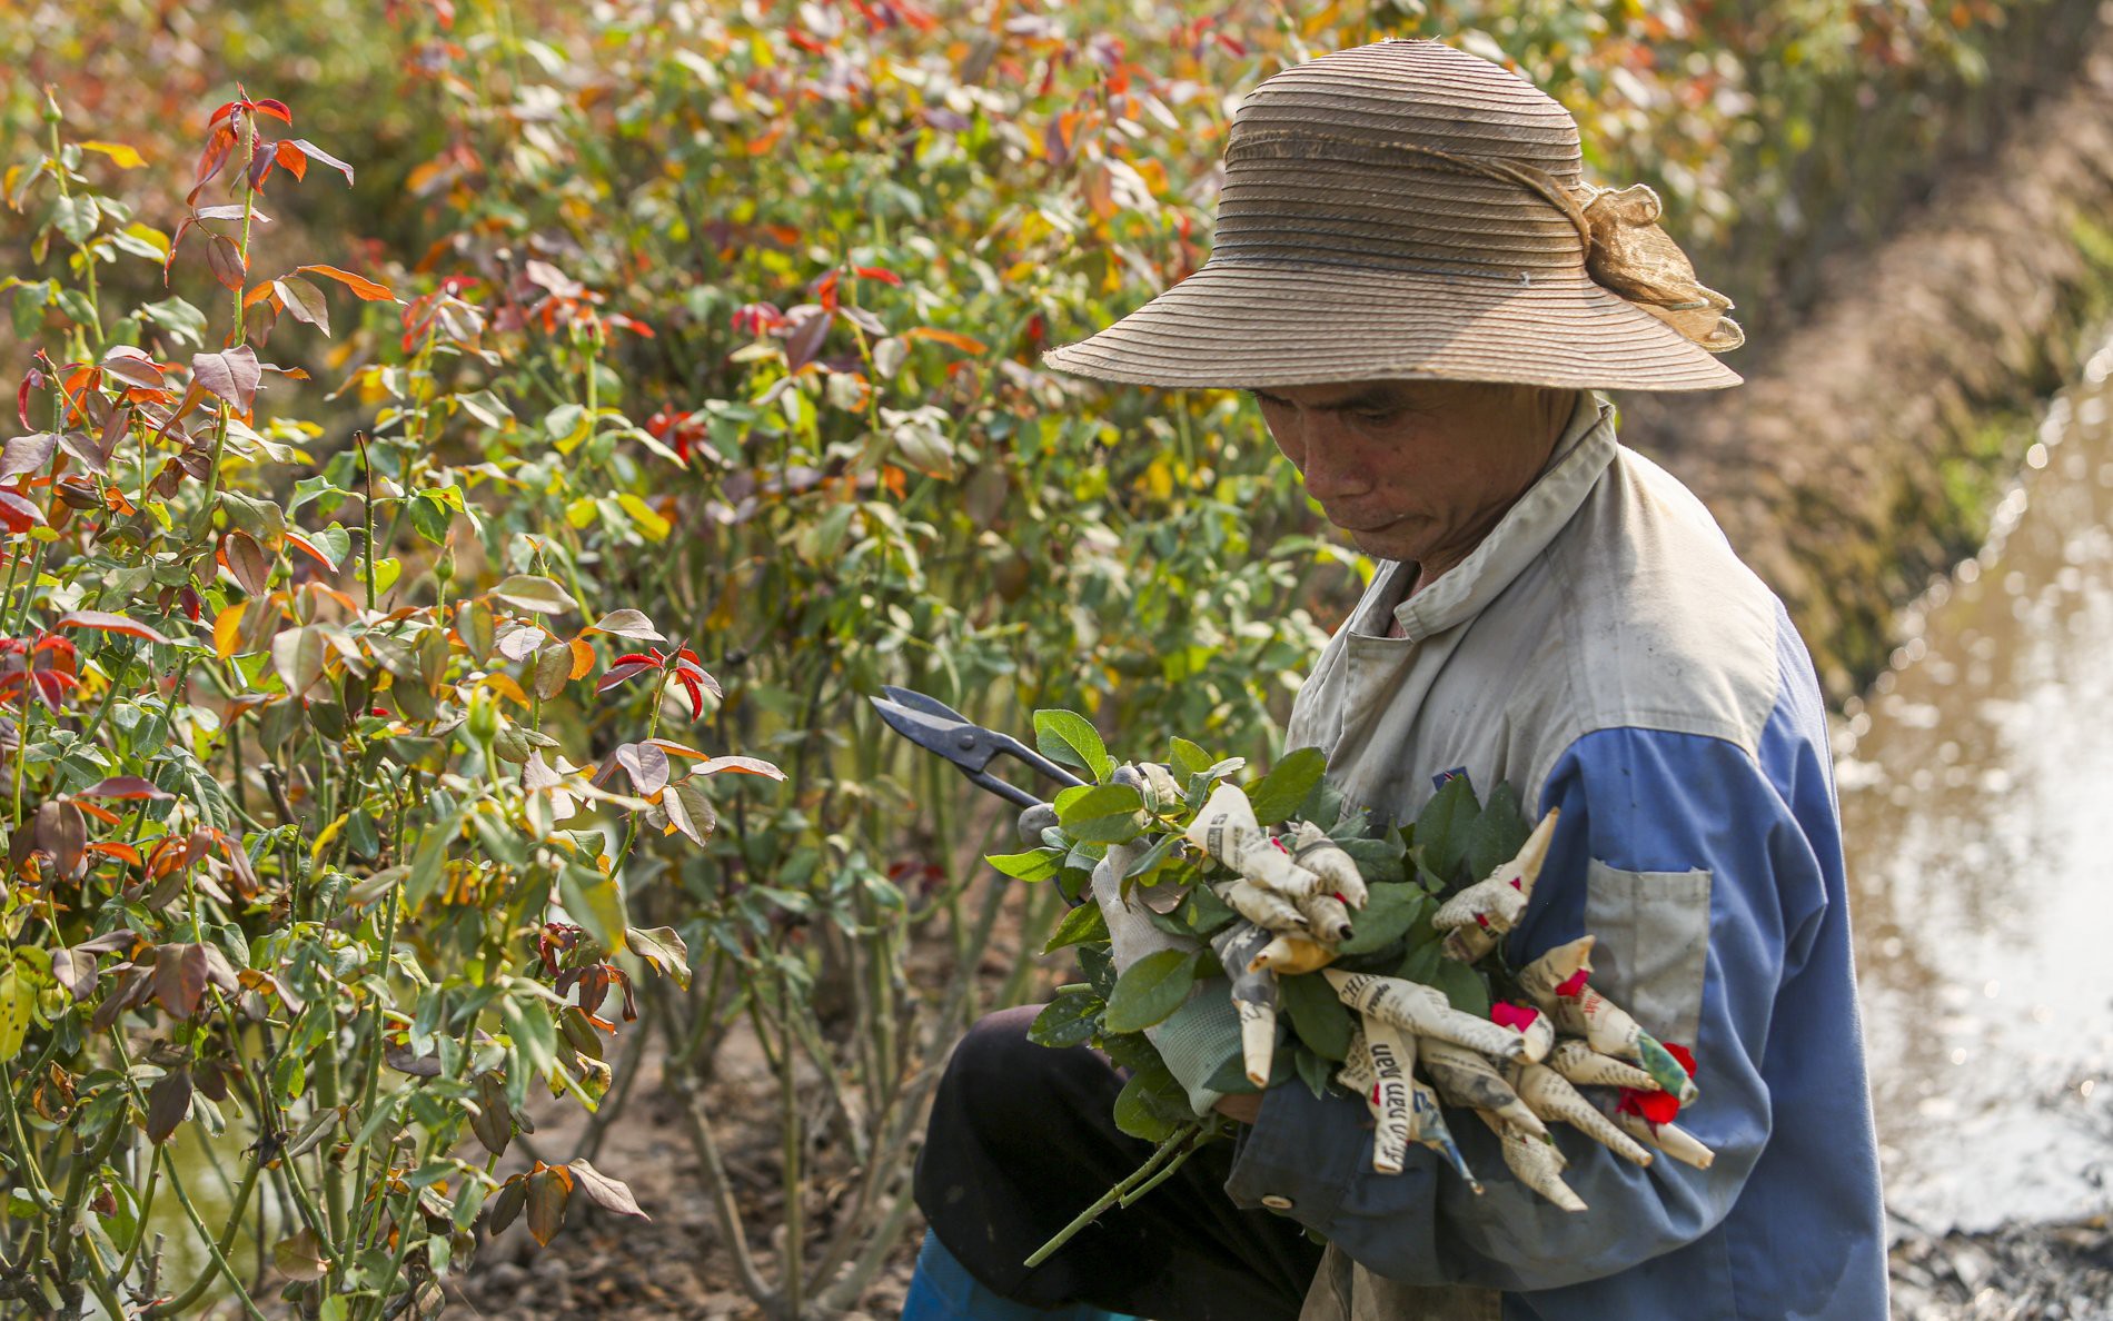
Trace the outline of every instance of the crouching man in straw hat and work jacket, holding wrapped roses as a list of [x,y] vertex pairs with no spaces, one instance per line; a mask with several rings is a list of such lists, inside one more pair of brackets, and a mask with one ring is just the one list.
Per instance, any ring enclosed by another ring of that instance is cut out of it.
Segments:
[[[1287,746],[1327,750],[1331,780],[1392,820],[1447,774],[1559,807],[1509,955],[1602,936],[1593,985],[1701,1061],[1680,1122],[1716,1162],[1638,1169],[1557,1129],[1589,1205],[1564,1213],[1462,1118],[1481,1196],[1422,1148],[1373,1173],[1361,1099],[1202,1089],[1230,1053],[1207,991],[1156,1040],[1198,1112],[1251,1124],[1238,1148],[1029,1272],[1143,1148],[1107,1118],[1111,1069],[1027,1044],[1031,1010],[1012,1010],[976,1025],[940,1086],[909,1321],[1885,1315],[1811,662],[1593,393],[1735,385],[1709,353],[1739,332],[1657,228],[1657,199],[1587,188],[1578,161],[1553,99],[1435,42],[1287,70],[1234,118],[1209,264],[1050,364],[1253,391],[1308,495],[1384,560]],[[1135,917],[1097,894],[1122,962]]]

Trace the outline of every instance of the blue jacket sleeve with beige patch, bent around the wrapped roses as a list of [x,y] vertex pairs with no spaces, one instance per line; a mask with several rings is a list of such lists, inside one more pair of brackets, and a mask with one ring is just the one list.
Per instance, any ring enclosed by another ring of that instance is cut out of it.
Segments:
[[[1798,761],[1798,774],[1826,774],[1824,755]],[[1564,1213],[1511,1177],[1479,1120],[1454,1114],[1485,1188],[1475,1196],[1424,1148],[1403,1173],[1373,1173],[1363,1103],[1291,1084],[1264,1099],[1226,1186],[1232,1198],[1287,1211],[1367,1270],[1420,1285],[1551,1289],[1709,1232],[1769,1139],[1771,1015],[1826,909],[1819,858],[1834,856],[1838,826],[1832,805],[1800,822],[1790,807],[1800,797],[1811,795],[1773,784],[1731,742],[1648,729],[1581,738],[1542,790],[1562,824],[1509,955],[1600,936],[1593,987],[1695,1050],[1701,1097],[1680,1124],[1716,1152],[1712,1169],[1665,1156],[1640,1169],[1551,1124],[1570,1160],[1564,1179],[1589,1207]]]

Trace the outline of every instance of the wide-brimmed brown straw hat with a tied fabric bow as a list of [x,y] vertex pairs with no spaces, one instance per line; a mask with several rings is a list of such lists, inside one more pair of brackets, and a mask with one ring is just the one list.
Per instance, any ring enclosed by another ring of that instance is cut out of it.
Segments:
[[1509,380],[1720,389],[1731,300],[1644,186],[1581,178],[1578,127],[1517,74],[1433,40],[1323,55],[1232,118],[1211,260],[1063,372],[1158,387]]

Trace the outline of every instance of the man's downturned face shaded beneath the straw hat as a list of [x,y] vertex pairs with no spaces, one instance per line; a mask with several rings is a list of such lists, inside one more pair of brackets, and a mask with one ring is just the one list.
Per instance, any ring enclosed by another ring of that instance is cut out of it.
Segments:
[[1456,380],[1251,391],[1285,459],[1361,552],[1458,564],[1547,465],[1574,391]]

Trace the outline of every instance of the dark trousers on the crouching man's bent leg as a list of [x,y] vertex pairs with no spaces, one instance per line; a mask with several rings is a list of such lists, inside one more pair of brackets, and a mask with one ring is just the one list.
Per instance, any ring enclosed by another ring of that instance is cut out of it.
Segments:
[[1122,1078],[1084,1048],[1027,1040],[1040,1006],[976,1023],[953,1053],[917,1158],[917,1205],[985,1287],[1031,1306],[1088,1302],[1154,1321],[1295,1321],[1321,1247],[1226,1196],[1232,1143],[1198,1150],[1042,1266],[1023,1262],[1152,1154],[1116,1129]]

